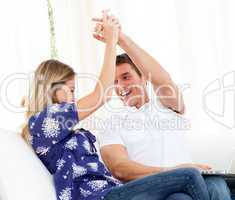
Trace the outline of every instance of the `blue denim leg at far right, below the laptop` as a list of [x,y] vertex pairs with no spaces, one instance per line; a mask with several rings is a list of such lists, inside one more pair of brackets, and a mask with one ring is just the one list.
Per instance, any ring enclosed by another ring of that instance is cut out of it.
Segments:
[[231,200],[230,190],[220,176],[204,177],[211,200]]

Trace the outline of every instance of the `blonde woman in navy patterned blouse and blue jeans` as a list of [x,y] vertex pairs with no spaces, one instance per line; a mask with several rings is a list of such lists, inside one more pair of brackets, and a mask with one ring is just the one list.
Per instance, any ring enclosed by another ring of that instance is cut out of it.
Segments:
[[95,136],[84,129],[73,129],[105,103],[102,92],[114,81],[119,24],[107,11],[103,12],[103,29],[106,48],[101,84],[97,83],[86,97],[74,100],[75,73],[66,64],[48,60],[35,72],[23,137],[53,175],[57,199],[209,200],[206,185],[195,169],[119,182],[99,161]]

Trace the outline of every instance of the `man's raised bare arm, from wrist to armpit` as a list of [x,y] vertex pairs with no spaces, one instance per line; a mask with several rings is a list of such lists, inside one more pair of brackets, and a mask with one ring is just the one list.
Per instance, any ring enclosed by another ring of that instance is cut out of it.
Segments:
[[120,47],[128,54],[134,64],[152,82],[161,103],[183,114],[185,106],[183,97],[169,73],[145,50],[139,47],[131,38],[123,33],[119,36]]

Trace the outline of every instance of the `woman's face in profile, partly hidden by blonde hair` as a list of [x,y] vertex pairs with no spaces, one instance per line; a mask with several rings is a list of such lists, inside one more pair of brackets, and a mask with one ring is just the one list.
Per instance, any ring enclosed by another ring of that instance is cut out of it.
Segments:
[[74,89],[75,89],[75,80],[74,78],[68,80],[63,84],[59,89],[55,91],[56,99],[59,103],[74,102]]

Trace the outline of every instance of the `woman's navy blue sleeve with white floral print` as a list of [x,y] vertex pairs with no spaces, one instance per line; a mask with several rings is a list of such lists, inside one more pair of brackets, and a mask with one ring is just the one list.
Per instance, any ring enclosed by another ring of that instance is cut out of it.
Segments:
[[61,103],[47,106],[29,120],[29,131],[33,145],[51,146],[72,134],[78,123],[77,108],[74,103]]

